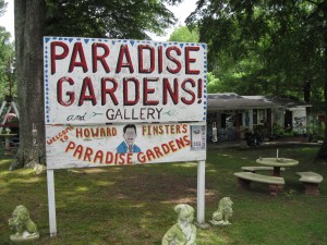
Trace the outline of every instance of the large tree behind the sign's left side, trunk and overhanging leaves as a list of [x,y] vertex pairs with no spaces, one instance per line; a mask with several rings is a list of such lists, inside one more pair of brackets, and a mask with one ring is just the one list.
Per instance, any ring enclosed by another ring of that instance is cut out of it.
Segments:
[[45,162],[44,36],[149,39],[175,22],[164,3],[180,1],[15,0],[20,148],[11,169]]

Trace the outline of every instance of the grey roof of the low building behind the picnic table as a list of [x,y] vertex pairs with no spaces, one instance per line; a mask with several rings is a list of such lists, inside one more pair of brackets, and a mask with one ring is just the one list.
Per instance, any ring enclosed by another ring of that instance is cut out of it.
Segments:
[[277,103],[267,98],[245,98],[235,93],[208,94],[208,111],[216,110],[242,110],[242,109],[267,109],[284,108],[284,105]]

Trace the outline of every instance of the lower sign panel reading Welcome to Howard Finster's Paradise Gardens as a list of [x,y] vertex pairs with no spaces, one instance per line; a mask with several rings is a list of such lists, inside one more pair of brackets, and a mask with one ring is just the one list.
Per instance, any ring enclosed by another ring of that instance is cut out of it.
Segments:
[[205,160],[205,123],[46,125],[47,168]]

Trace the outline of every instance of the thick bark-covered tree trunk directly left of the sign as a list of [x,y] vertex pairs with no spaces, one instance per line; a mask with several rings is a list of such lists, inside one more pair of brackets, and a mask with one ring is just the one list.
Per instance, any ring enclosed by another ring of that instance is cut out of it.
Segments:
[[[11,169],[45,162],[43,37],[45,1],[15,0],[20,147]],[[33,130],[36,130],[33,134]],[[34,140],[35,139],[35,140]]]

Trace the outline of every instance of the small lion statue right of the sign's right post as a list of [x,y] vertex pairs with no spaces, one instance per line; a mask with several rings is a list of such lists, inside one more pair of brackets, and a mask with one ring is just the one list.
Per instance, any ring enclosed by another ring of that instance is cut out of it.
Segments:
[[229,218],[233,215],[232,209],[233,201],[229,197],[223,197],[220,199],[218,205],[218,210],[213,213],[213,220],[210,220],[213,225],[228,225]]

